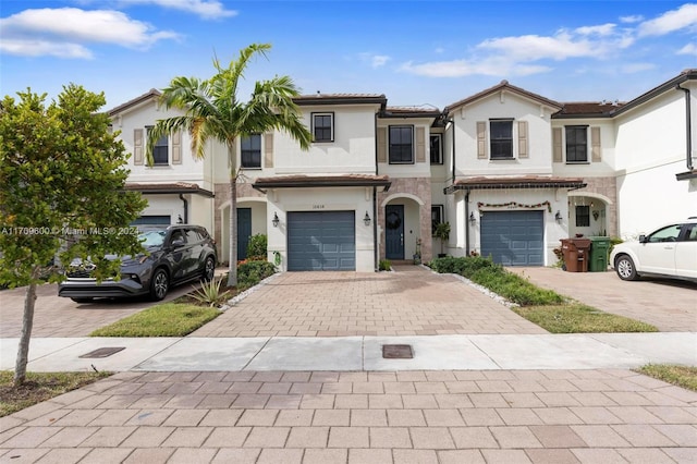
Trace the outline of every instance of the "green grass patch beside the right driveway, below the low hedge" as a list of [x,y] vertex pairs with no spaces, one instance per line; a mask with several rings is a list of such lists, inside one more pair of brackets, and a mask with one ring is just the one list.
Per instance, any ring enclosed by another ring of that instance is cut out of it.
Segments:
[[650,323],[603,313],[580,303],[521,306],[512,309],[552,333],[658,332]]

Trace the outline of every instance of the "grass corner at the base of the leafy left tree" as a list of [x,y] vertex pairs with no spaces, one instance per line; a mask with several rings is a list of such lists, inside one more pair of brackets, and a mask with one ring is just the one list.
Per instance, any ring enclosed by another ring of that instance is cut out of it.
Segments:
[[0,417],[85,387],[111,373],[27,373],[23,386],[14,388],[14,373],[0,371]]

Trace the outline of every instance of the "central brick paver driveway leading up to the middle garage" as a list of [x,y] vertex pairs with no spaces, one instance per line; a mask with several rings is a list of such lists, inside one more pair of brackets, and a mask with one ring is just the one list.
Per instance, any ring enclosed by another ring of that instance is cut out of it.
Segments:
[[191,337],[547,333],[453,276],[285,272]]

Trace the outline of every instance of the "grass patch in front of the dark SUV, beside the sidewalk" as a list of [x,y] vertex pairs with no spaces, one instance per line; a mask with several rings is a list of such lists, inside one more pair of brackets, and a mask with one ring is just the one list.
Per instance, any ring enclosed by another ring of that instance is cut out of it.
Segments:
[[220,316],[220,309],[163,303],[95,330],[90,337],[184,337]]

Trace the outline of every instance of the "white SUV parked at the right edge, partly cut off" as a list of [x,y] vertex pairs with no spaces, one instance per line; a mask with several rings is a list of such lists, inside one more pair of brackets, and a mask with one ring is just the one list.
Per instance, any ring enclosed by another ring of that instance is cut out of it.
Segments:
[[697,217],[615,245],[610,264],[622,280],[657,276],[697,282]]

